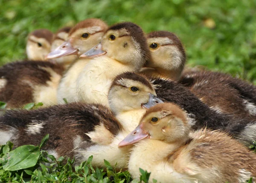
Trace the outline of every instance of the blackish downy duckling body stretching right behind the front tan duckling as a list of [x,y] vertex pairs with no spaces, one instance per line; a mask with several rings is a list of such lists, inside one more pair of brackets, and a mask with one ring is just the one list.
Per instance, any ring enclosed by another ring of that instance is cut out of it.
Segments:
[[164,102],[173,102],[186,111],[189,115],[189,123],[194,130],[204,127],[211,130],[222,129],[247,146],[255,141],[255,119],[219,113],[175,81],[155,78],[153,84],[156,86],[156,93],[160,99]]

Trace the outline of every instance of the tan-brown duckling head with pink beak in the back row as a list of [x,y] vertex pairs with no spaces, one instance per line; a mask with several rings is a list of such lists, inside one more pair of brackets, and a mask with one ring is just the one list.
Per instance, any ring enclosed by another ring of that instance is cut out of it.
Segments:
[[99,44],[108,25],[100,19],[87,19],[76,24],[70,31],[67,41],[47,55],[47,59],[76,55],[88,51]]

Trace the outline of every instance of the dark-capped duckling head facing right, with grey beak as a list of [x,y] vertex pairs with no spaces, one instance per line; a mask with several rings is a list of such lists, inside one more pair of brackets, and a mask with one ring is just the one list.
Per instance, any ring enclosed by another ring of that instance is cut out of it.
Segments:
[[108,101],[115,115],[163,103],[157,97],[151,82],[131,72],[122,73],[113,80],[108,93]]

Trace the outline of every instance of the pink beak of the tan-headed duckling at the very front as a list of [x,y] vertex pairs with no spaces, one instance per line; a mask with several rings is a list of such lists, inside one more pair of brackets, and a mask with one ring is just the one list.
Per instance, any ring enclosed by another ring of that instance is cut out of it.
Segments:
[[147,137],[150,137],[150,135],[148,133],[143,132],[142,125],[139,125],[137,126],[137,128],[135,128],[134,131],[127,135],[125,139],[118,144],[118,147],[134,144]]

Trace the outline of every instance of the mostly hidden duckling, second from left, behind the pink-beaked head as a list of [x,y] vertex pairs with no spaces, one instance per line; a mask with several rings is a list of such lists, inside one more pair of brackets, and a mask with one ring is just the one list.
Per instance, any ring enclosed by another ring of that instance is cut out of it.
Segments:
[[[64,27],[59,29],[52,41],[52,46],[51,46],[51,52],[54,51],[56,48],[58,48],[60,45],[62,45],[68,37],[68,33],[71,30],[72,27]],[[54,58],[54,59],[49,59],[50,62],[54,64],[59,64],[63,65],[65,70],[69,68],[70,64],[77,58],[76,55],[70,55],[70,56],[64,56],[64,57],[59,57],[59,58]]]

